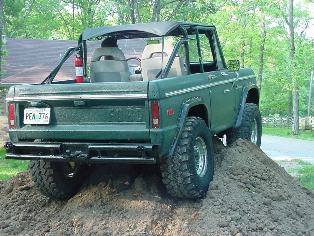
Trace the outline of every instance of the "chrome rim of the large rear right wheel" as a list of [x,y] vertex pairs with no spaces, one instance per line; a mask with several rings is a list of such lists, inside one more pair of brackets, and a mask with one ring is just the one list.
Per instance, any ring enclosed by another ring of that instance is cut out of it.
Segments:
[[207,170],[207,149],[203,138],[197,137],[194,144],[194,165],[199,177],[203,177]]

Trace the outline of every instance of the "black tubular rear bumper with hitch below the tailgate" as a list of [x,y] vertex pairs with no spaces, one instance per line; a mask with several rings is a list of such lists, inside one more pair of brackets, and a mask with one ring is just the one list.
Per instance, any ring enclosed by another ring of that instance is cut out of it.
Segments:
[[155,164],[159,145],[7,142],[6,159],[85,163]]

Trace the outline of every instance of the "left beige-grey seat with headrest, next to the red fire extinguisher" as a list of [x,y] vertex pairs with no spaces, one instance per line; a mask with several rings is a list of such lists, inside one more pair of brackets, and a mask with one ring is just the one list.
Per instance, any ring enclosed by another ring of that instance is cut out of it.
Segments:
[[[105,57],[105,60],[100,60]],[[128,82],[131,75],[120,48],[96,48],[90,62],[90,82]]]

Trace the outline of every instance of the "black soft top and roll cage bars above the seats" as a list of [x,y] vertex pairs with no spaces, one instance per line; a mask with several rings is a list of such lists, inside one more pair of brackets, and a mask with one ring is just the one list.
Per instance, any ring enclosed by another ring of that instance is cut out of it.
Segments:
[[[191,74],[190,68],[190,57],[189,57],[189,45],[188,39],[190,39],[189,35],[195,35],[197,45],[198,45],[198,57],[199,57],[199,65],[200,65],[200,72],[204,72],[203,70],[203,61],[202,55],[200,50],[200,42],[199,42],[199,34],[205,34],[211,45],[211,50],[213,52],[214,63],[217,66],[217,60],[215,48],[212,46],[214,35],[209,36],[209,31],[214,31],[214,34],[217,36],[216,28],[214,25],[205,25],[205,24],[197,24],[197,23],[187,23],[181,21],[165,21],[165,22],[154,22],[154,23],[143,23],[143,24],[133,24],[133,25],[119,25],[119,26],[104,26],[104,27],[96,27],[96,28],[88,28],[82,32],[78,39],[78,46],[71,47],[66,50],[63,54],[62,58],[60,59],[56,68],[45,78],[41,84],[50,84],[58,71],[60,70],[62,64],[75,52],[80,55],[83,59],[83,74],[84,77],[87,77],[87,45],[86,41],[89,39],[96,38],[101,40],[105,37],[114,37],[116,39],[130,39],[130,38],[148,38],[148,37],[167,37],[167,36],[178,36],[182,37],[179,39],[176,44],[175,48],[170,56],[170,59],[165,66],[165,70],[161,75],[162,78],[166,78],[171,65],[175,59],[176,54],[181,45],[184,45],[185,49],[185,69],[186,74]],[[219,41],[218,41],[219,43]],[[219,44],[220,48],[220,44]],[[222,55],[222,61],[225,65],[225,59],[223,57],[222,51],[220,52]]]

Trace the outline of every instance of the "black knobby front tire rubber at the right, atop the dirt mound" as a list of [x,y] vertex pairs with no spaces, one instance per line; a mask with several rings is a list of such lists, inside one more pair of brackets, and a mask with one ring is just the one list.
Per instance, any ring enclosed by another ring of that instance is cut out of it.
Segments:
[[257,140],[255,144],[260,147],[262,139],[262,118],[258,106],[254,103],[245,104],[241,125],[238,128],[231,128],[227,131],[227,145],[234,143],[238,138],[252,141],[252,122],[254,122],[254,119],[257,124]]

